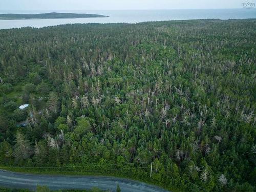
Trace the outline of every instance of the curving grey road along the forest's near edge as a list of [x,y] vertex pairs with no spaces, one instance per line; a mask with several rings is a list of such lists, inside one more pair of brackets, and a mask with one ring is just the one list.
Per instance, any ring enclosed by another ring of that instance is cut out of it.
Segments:
[[49,176],[13,173],[0,170],[0,186],[7,188],[27,188],[35,190],[36,185],[47,185],[50,189],[91,189],[98,187],[103,190],[116,191],[119,184],[122,192],[166,192],[154,185],[129,179],[98,176]]

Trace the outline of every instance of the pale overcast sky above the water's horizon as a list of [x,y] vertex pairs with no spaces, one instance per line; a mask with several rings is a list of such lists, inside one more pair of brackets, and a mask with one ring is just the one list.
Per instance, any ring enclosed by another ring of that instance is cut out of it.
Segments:
[[256,0],[0,0],[0,10],[113,10],[241,8]]

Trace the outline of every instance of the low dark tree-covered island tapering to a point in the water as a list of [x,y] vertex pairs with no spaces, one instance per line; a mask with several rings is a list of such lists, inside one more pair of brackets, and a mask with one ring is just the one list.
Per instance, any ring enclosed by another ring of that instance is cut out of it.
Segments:
[[91,18],[91,17],[108,17],[98,14],[84,14],[84,13],[40,13],[40,14],[0,14],[2,20],[16,20],[16,19],[53,19],[53,18]]

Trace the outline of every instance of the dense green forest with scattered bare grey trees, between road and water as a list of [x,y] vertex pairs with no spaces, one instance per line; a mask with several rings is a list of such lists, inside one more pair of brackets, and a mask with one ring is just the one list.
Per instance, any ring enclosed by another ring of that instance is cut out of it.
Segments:
[[0,30],[1,167],[255,191],[255,37],[255,19]]

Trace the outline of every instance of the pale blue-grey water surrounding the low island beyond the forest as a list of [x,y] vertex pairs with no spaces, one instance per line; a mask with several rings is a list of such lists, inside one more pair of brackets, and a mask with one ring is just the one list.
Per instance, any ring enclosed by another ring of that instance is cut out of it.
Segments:
[[93,13],[108,15],[104,18],[69,18],[69,19],[31,19],[31,20],[0,20],[0,29],[21,27],[46,27],[62,24],[83,23],[139,23],[159,20],[186,19],[245,19],[256,18],[256,9],[173,9],[173,10],[37,10],[37,11],[8,11],[0,13]]

